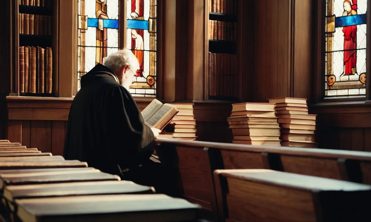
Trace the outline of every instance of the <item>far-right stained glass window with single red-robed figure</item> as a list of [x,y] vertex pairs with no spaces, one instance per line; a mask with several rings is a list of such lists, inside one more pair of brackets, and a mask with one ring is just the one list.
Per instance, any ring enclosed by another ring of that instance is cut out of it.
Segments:
[[366,94],[367,0],[326,0],[325,98]]

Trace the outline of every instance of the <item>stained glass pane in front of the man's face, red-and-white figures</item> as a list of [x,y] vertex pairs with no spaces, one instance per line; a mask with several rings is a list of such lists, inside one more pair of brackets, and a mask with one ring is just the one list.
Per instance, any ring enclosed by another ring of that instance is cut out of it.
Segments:
[[133,96],[156,96],[157,0],[127,0],[127,48],[138,58],[140,68],[130,86]]

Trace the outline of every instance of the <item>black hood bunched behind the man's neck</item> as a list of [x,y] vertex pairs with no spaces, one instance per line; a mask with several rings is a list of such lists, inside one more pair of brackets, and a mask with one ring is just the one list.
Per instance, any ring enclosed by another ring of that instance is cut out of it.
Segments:
[[98,63],[94,68],[80,78],[80,86],[82,88],[101,78],[112,78],[119,83],[118,78],[110,68]]

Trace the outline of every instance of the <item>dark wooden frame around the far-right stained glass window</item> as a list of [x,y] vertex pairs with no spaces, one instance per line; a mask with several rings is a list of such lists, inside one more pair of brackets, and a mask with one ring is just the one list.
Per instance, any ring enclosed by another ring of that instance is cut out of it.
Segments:
[[[323,87],[323,70],[325,69],[325,6],[326,1],[324,0],[316,0],[314,1],[314,9],[313,12],[314,16],[314,28],[313,28],[313,64],[314,64],[314,75],[313,75],[313,102],[317,103],[317,105],[329,105],[333,102],[342,102],[343,104],[361,104],[367,100],[370,100],[370,83],[366,81],[366,95],[365,97],[361,98],[325,98],[325,89]],[[368,0],[367,8],[371,9],[371,1]],[[369,34],[371,25],[371,16],[367,16],[367,40],[366,40],[366,73],[367,75],[370,73],[370,58],[371,58],[371,36]],[[366,75],[366,80],[367,80]],[[355,102],[356,101],[356,102]],[[359,102],[357,102],[359,101]]]

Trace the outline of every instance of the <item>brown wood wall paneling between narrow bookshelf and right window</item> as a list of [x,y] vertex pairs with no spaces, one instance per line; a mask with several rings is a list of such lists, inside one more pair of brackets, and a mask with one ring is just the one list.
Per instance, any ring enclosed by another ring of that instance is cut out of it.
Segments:
[[255,2],[255,102],[311,97],[312,1]]

